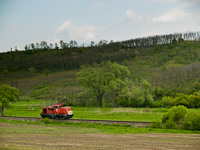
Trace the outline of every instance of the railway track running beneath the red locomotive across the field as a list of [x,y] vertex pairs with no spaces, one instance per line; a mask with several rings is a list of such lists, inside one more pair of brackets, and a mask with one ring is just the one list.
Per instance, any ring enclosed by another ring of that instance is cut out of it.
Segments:
[[[14,116],[5,116],[0,117],[2,119],[11,119],[11,120],[30,120],[30,121],[38,121],[41,118],[37,117],[14,117]],[[115,120],[89,120],[89,119],[51,119],[53,121],[62,121],[62,122],[89,122],[89,123],[101,123],[101,124],[129,124],[134,127],[145,127],[151,124],[151,122],[138,122],[138,121],[115,121]]]

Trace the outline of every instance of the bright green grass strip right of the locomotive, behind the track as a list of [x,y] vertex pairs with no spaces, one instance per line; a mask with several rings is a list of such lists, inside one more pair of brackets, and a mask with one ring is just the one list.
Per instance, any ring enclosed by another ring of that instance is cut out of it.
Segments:
[[72,107],[76,119],[146,121],[160,120],[168,109]]

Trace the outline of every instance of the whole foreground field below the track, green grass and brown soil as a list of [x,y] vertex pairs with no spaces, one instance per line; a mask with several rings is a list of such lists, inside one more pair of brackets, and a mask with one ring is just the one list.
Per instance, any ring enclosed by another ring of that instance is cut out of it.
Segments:
[[0,140],[2,150],[200,148],[199,131],[5,119],[0,119]]

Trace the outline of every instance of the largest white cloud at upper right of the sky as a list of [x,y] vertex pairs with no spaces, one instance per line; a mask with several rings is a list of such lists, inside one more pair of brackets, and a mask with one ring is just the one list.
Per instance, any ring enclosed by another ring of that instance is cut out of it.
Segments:
[[193,14],[189,12],[185,12],[183,8],[173,8],[168,12],[158,16],[153,17],[153,22],[181,22],[184,21],[188,17],[192,17]]

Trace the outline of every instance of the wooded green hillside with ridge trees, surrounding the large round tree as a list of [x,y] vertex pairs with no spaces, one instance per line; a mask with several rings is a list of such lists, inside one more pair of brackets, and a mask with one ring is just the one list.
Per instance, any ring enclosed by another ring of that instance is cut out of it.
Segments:
[[127,67],[126,92],[108,90],[102,106],[200,107],[200,32],[176,33],[90,46],[72,41],[30,44],[24,51],[0,54],[0,84],[20,90],[22,99],[65,101],[97,106],[96,97],[80,87],[81,66],[110,61]]

